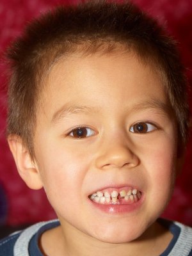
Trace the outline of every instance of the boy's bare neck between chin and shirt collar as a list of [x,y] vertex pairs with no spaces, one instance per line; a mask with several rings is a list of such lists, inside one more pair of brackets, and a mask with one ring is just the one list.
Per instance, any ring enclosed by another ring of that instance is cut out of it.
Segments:
[[154,223],[138,239],[129,243],[111,244],[84,234],[68,223],[42,235],[41,248],[47,256],[140,256],[160,255],[168,246],[172,234],[159,223]]

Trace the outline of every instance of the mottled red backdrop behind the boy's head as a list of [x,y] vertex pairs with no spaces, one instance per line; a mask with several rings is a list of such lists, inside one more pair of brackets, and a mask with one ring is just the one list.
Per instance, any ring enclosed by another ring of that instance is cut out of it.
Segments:
[[[192,83],[192,1],[191,0],[132,0],[141,8],[166,22],[168,31],[180,42],[182,60],[188,68],[189,84]],[[1,0],[0,1],[0,54],[24,25],[60,3],[76,3],[77,0]],[[5,140],[6,116],[6,68],[0,62],[0,185],[7,195],[6,223],[19,225],[54,218],[44,191],[32,191],[17,174],[15,164]],[[192,99],[191,99],[192,102]],[[191,104],[192,105],[192,104]],[[192,141],[192,140],[191,140]],[[165,216],[192,225],[192,146],[189,143],[186,164],[177,180],[172,202]],[[163,188],[162,188],[163,189]],[[0,205],[1,207],[1,205]]]

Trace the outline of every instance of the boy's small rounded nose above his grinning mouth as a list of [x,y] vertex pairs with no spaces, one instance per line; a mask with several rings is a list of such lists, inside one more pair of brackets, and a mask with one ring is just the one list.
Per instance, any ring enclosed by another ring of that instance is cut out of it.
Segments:
[[96,159],[96,166],[100,169],[108,168],[134,168],[138,166],[139,158],[131,148],[122,143],[108,143],[102,148]]

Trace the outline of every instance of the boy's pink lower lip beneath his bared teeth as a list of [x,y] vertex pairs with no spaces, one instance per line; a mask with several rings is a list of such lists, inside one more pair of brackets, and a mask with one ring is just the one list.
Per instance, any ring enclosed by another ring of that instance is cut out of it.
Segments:
[[140,200],[138,200],[137,202],[133,202],[132,204],[97,204],[90,200],[90,203],[93,207],[99,209],[99,211],[106,212],[108,214],[123,214],[137,211],[138,209],[140,209],[142,202],[143,196],[141,196]]

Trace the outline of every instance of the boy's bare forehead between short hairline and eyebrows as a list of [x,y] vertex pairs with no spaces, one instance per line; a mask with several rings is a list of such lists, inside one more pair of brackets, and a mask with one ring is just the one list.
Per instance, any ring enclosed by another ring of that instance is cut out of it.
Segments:
[[107,102],[119,107],[124,102],[128,107],[155,101],[168,105],[163,79],[157,70],[134,52],[116,51],[87,56],[76,53],[61,58],[47,76],[41,106],[44,113],[49,109],[51,118],[63,105],[77,105],[81,111],[86,102],[99,109]]

